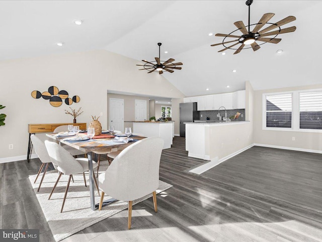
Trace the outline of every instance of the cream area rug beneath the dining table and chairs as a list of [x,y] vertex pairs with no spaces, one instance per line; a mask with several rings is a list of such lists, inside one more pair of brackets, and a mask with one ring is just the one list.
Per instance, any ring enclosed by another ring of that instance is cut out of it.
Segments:
[[[102,172],[104,172],[106,168],[107,166],[100,166],[100,170],[102,170]],[[36,175],[30,176],[29,180],[32,184],[39,204],[42,208],[42,211],[46,217],[46,220],[56,241],[62,240],[78,231],[83,230],[86,227],[89,227],[103,219],[106,219],[128,208],[128,202],[116,201],[112,204],[109,204],[108,206],[103,207],[101,211],[93,211],[90,208],[89,178],[88,173],[86,173],[87,187],[85,187],[84,184],[83,174],[73,175],[74,183],[70,181],[64,209],[63,212],[60,213],[62,200],[68,181],[68,176],[62,175],[60,177],[59,183],[50,200],[48,200],[48,197],[56,182],[58,173],[56,170],[47,172],[44,181],[41,185],[41,189],[39,192],[37,192],[41,176],[42,173],[39,175],[36,184],[34,184]],[[156,193],[158,194],[171,187],[172,185],[159,180],[159,188],[156,191]],[[151,196],[152,194],[147,195],[141,199],[135,200],[133,201],[133,205]],[[107,200],[109,198],[111,197],[105,195],[104,200]],[[100,201],[100,197],[96,188],[95,201],[96,203],[99,203]],[[124,226],[126,226],[126,224]]]

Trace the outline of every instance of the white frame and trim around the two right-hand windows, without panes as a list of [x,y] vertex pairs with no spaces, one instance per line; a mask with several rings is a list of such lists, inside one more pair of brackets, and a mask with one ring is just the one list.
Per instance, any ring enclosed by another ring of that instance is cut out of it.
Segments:
[[[307,89],[286,92],[271,92],[263,93],[262,97],[262,129],[270,131],[291,131],[291,132],[306,132],[306,133],[322,133],[322,130],[316,129],[300,129],[300,93],[320,92],[322,89]],[[266,97],[273,95],[292,94],[292,124],[291,128],[266,127]]]

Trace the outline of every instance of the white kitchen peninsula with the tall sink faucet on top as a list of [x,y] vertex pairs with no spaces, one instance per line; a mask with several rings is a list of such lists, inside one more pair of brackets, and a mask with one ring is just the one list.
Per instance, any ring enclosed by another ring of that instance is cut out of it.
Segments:
[[188,156],[220,163],[252,145],[249,121],[185,123]]

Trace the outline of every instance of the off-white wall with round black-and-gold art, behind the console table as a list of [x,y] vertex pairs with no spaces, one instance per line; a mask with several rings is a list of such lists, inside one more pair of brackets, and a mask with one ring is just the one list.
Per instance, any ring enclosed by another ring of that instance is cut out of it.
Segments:
[[[27,154],[28,124],[72,122],[65,114],[65,103],[52,107],[48,100],[31,97],[33,90],[44,92],[49,86],[78,95],[83,107],[79,123],[91,122],[91,115],[103,116],[107,126],[107,90],[181,98],[184,95],[167,79],[157,73],[138,71],[139,61],[107,50],[92,50],[0,62],[0,104],[7,106],[6,126],[0,127],[0,159]],[[9,150],[9,144],[14,149]],[[2,159],[1,161],[4,161]]]

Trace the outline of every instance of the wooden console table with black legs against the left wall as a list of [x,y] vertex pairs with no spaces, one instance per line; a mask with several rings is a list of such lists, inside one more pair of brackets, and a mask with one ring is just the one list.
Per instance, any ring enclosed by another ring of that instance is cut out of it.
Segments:
[[62,124],[29,124],[28,125],[28,133],[29,133],[29,142],[28,142],[28,153],[27,153],[27,161],[30,162],[30,156],[32,152],[32,142],[30,139],[31,135],[37,134],[37,133],[52,133],[54,130],[62,125],[73,125],[73,126],[79,126],[80,130],[86,130],[86,123],[62,123]]

